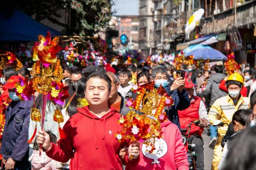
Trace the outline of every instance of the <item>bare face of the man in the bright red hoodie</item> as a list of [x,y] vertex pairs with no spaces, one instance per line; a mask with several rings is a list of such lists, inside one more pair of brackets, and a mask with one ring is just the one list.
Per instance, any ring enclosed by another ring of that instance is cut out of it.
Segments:
[[108,104],[109,99],[108,83],[99,78],[90,78],[86,83],[85,97],[92,106]]

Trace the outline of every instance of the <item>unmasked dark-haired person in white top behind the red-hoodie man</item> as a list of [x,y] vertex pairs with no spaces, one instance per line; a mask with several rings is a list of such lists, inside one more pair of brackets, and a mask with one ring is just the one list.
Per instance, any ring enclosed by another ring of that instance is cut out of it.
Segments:
[[117,90],[120,92],[123,98],[125,98],[127,92],[132,89],[132,84],[129,84],[129,81],[132,78],[132,73],[128,69],[122,69],[117,75],[120,83]]

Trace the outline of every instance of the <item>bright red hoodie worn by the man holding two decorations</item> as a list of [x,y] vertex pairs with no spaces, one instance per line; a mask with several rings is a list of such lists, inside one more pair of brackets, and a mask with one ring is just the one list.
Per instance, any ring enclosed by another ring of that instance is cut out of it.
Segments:
[[[60,139],[58,145],[52,143],[52,148],[46,151],[48,157],[63,163],[71,158],[71,170],[122,170],[118,155],[128,145],[119,143],[115,137],[122,129],[118,124],[119,112],[111,107],[108,114],[98,118],[88,106],[77,110],[63,127],[67,137]],[[130,160],[126,154],[124,164],[135,165],[138,161],[139,158]]]

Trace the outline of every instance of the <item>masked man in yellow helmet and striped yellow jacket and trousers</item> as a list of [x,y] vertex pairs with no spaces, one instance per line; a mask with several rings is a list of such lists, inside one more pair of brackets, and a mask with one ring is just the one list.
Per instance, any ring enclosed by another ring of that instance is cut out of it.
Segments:
[[[226,81],[226,86],[229,94],[217,99],[209,111],[208,116],[212,125],[218,125],[221,122],[229,124],[232,121],[234,112],[239,109],[249,108],[249,98],[243,97],[240,94],[241,88],[244,86],[244,78],[240,74],[231,74]],[[212,170],[218,170],[218,164],[222,154],[221,140],[226,134],[227,127],[227,125],[218,127],[218,139],[214,147]]]

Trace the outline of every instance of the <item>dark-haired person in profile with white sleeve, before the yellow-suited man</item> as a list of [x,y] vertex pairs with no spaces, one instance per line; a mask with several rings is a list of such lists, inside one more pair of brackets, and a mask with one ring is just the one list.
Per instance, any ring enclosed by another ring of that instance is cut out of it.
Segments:
[[[249,110],[249,109],[248,109]],[[229,124],[227,133],[225,135],[225,141],[222,139],[223,143],[223,151],[221,156],[221,161],[219,162],[218,169],[222,170],[223,166],[226,163],[227,153],[231,149],[231,143],[233,139],[240,134],[245,128],[250,127],[251,122],[251,112],[248,110],[240,109],[236,111],[233,115],[232,122]]]

